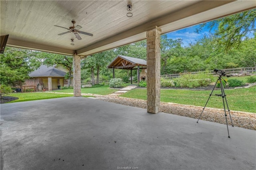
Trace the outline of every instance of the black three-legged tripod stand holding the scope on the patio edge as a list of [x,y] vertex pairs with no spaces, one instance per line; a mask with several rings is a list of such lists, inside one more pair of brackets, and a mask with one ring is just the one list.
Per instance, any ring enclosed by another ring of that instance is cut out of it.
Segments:
[[[223,87],[222,79],[223,79],[223,78],[222,78],[222,76],[220,75],[219,78],[218,78],[218,80],[216,81],[216,83],[215,83],[213,89],[212,89],[212,92],[211,92],[211,94],[210,94],[208,100],[206,101],[206,104],[205,104],[205,106],[204,106],[204,109],[205,109],[205,107],[206,107],[206,105],[207,105],[207,103],[208,103],[210,97],[212,96],[212,93],[213,93],[213,91],[214,91],[214,89],[215,89],[215,87],[216,87],[218,81],[220,81],[221,94],[215,94],[215,95],[222,97],[223,107],[224,107],[224,113],[225,113],[225,118],[226,118],[226,124],[227,124],[227,129],[228,129],[228,120],[227,120],[227,114],[226,114],[226,107],[225,107],[224,98],[225,98],[225,101],[226,101],[226,106],[227,106],[227,109],[228,109],[228,113],[229,113],[229,117],[230,117],[230,120],[231,120],[232,127],[234,127],[234,125],[233,125],[233,122],[232,122],[232,119],[231,119],[230,110],[229,110],[229,108],[228,108],[228,102],[227,102],[226,95],[225,95],[225,92],[224,92],[224,87]],[[224,80],[224,79],[223,79],[223,80]],[[227,83],[225,80],[224,80],[224,82]],[[204,112],[204,109],[203,109],[202,113]],[[198,123],[200,117],[202,116],[202,113],[200,114],[200,116],[199,116],[199,118],[198,118],[198,120],[197,120],[196,123]],[[230,136],[229,136],[229,131],[228,131],[228,137],[230,138]]]

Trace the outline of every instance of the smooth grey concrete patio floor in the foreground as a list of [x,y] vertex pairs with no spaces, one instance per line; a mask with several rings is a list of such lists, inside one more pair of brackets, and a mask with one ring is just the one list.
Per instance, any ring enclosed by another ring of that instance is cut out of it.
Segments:
[[85,97],[1,104],[1,170],[256,169],[256,131]]

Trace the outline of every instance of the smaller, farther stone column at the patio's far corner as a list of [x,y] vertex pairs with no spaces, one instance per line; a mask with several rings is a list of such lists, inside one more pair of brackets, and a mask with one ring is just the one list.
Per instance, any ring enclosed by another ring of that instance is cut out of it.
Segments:
[[81,58],[79,55],[73,55],[73,88],[74,96],[81,96]]

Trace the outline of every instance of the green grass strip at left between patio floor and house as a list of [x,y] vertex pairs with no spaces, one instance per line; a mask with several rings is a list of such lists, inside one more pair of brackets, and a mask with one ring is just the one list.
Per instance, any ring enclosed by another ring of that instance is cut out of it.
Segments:
[[15,102],[21,102],[21,101],[53,99],[53,98],[59,98],[59,97],[70,97],[70,96],[74,96],[74,95],[55,94],[55,93],[12,93],[8,96],[18,97],[19,99],[8,102],[8,103],[15,103]]

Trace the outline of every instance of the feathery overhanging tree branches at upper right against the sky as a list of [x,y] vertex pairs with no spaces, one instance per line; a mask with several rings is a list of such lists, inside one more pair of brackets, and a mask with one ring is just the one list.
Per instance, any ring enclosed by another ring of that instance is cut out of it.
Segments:
[[202,31],[205,26],[210,28],[210,32],[216,29],[213,35],[219,46],[224,46],[225,51],[238,48],[240,43],[255,32],[256,9],[240,12],[231,16],[220,18],[212,22],[201,24],[197,32]]

